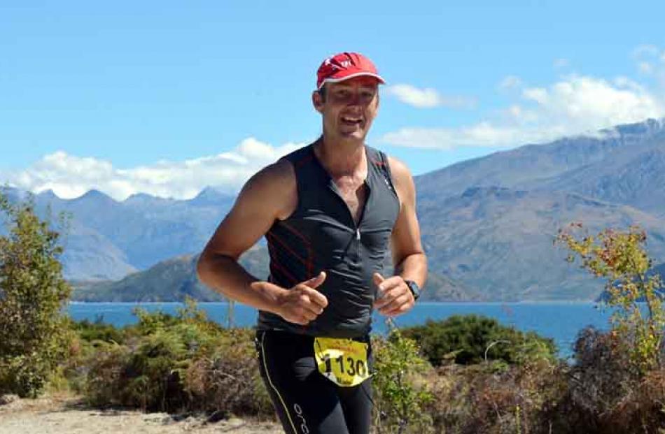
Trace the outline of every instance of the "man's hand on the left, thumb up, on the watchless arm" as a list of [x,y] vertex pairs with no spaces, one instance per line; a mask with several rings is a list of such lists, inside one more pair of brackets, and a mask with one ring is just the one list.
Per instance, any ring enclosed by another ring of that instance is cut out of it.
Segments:
[[314,321],[328,305],[328,298],[316,291],[323,284],[325,272],[321,271],[316,277],[296,284],[291,289],[285,289],[279,295],[276,312],[286,321],[306,326]]

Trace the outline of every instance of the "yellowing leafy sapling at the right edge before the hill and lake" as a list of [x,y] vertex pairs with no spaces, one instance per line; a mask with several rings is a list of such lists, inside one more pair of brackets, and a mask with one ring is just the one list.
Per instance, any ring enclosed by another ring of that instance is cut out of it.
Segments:
[[582,224],[559,231],[557,240],[570,249],[568,261],[576,259],[596,277],[605,277],[605,303],[614,308],[611,335],[615,345],[631,359],[638,375],[662,368],[665,331],[661,277],[650,274],[652,260],[645,250],[647,236],[638,226],[622,231],[605,229],[589,235]]

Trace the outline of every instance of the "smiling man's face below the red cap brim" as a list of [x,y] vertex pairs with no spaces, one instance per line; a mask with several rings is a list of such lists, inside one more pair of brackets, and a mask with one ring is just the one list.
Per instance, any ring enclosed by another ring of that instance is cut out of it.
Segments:
[[314,108],[323,116],[326,137],[351,142],[365,141],[379,110],[376,78],[360,76],[325,84],[325,99],[312,96]]

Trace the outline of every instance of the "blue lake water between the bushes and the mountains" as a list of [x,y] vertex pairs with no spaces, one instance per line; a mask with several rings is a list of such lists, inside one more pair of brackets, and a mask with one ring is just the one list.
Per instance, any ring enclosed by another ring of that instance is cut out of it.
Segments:
[[[175,314],[181,303],[71,303],[68,311],[73,319],[101,318],[114,326],[125,326],[137,322],[132,310],[141,307],[149,312],[162,310]],[[210,319],[228,325],[228,303],[199,303]],[[521,331],[535,331],[539,335],[553,338],[561,357],[569,357],[572,345],[582,328],[588,325],[608,328],[610,312],[597,308],[596,303],[419,303],[416,307],[395,319],[397,326],[424,324],[427,319],[444,319],[454,314],[482,314],[496,318],[501,324],[514,326]],[[374,332],[386,333],[385,317],[374,316]],[[253,326],[256,310],[245,305],[235,305],[233,324]]]

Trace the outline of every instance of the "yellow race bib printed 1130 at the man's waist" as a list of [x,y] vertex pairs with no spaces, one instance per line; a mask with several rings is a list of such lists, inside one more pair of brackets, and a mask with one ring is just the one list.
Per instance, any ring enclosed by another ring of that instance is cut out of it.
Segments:
[[339,386],[357,386],[370,377],[367,347],[351,339],[314,338],[318,372]]

